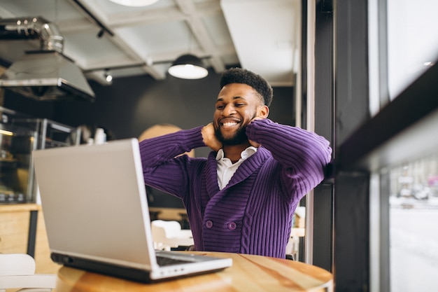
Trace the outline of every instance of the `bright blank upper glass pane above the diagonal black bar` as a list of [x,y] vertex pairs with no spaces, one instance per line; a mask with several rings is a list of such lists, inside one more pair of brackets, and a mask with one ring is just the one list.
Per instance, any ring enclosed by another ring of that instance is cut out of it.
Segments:
[[437,0],[387,0],[388,87],[393,100],[438,58]]

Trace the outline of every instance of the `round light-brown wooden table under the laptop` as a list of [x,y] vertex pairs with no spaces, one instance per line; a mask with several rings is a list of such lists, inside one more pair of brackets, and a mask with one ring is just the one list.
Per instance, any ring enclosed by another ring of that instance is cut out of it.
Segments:
[[102,274],[62,267],[57,274],[57,292],[100,291],[333,291],[330,272],[294,260],[240,253],[192,252],[233,259],[232,267],[155,284],[141,284]]

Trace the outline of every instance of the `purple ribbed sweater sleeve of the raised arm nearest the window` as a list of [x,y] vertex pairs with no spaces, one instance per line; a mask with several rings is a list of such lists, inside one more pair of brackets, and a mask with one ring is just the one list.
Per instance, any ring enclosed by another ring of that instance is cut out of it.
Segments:
[[281,179],[290,194],[301,197],[323,181],[332,154],[330,142],[324,137],[267,118],[251,122],[246,134],[282,165]]

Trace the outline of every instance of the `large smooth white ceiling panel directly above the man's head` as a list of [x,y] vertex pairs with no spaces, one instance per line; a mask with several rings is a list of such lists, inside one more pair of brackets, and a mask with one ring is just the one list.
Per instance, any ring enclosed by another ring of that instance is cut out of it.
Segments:
[[[223,0],[222,10],[242,67],[272,85],[292,85],[301,1]],[[242,15],[244,15],[242,17]]]

